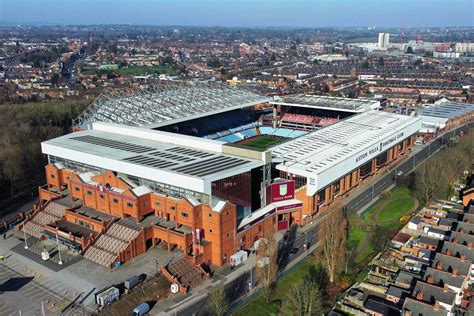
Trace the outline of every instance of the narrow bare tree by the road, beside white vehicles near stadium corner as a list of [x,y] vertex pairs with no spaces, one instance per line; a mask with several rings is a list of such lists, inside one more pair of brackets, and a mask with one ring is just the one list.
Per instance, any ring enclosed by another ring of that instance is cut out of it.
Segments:
[[257,249],[256,279],[267,303],[277,277],[277,253],[277,243],[273,237],[260,239]]

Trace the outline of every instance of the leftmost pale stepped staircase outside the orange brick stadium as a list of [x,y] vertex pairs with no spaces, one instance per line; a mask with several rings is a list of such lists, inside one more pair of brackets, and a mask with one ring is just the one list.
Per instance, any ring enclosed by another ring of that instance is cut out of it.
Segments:
[[61,204],[49,201],[25,223],[23,230],[39,239],[43,235],[44,226],[63,218],[66,209],[67,207]]

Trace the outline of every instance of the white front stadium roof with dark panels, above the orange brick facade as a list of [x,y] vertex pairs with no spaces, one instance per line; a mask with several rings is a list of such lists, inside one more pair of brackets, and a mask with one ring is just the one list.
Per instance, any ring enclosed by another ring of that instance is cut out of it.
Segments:
[[223,144],[100,123],[92,130],[51,139],[41,146],[47,155],[210,194],[211,182],[263,164],[261,160],[222,154],[219,147]]

